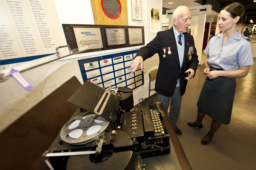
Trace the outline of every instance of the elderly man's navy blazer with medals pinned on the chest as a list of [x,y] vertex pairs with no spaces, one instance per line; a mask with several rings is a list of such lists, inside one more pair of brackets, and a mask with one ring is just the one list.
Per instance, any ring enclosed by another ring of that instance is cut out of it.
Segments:
[[[185,49],[182,66],[179,63],[179,55],[177,49],[176,39],[174,37],[173,27],[166,31],[160,31],[157,36],[150,41],[146,46],[140,48],[136,56],[142,56],[143,61],[158,53],[159,66],[155,82],[155,91],[159,94],[170,97],[173,95],[178,79],[180,82],[181,96],[185,93],[188,73],[185,73],[189,68],[195,72],[198,66],[197,50],[195,49],[194,38],[189,33],[184,33]],[[168,47],[170,47],[171,54],[168,54]],[[189,48],[193,47],[194,54],[189,60]],[[166,57],[163,57],[163,48],[166,48]],[[136,57],[135,56],[135,57]]]

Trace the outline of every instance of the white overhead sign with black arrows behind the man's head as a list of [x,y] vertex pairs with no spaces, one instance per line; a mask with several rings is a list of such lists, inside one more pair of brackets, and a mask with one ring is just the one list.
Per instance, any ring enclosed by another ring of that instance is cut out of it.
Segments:
[[[191,15],[211,14],[211,5],[200,5],[188,7]],[[166,10],[166,18],[172,18],[175,9]]]

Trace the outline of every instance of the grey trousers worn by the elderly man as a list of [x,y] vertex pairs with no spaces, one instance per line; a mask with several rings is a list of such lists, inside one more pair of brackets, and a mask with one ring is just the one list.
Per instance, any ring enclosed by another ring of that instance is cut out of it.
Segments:
[[158,101],[163,103],[163,106],[165,107],[166,112],[168,112],[168,107],[170,103],[170,111],[169,111],[169,118],[171,120],[171,124],[173,127],[176,127],[176,122],[179,117],[179,113],[181,111],[181,91],[179,87],[175,88],[175,91],[172,96],[166,97],[163,95],[158,94]]

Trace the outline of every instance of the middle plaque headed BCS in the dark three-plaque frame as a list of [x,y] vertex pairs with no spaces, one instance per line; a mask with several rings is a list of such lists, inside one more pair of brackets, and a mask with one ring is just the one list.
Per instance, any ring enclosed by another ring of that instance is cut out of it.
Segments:
[[124,28],[105,28],[107,45],[122,45],[126,44]]

